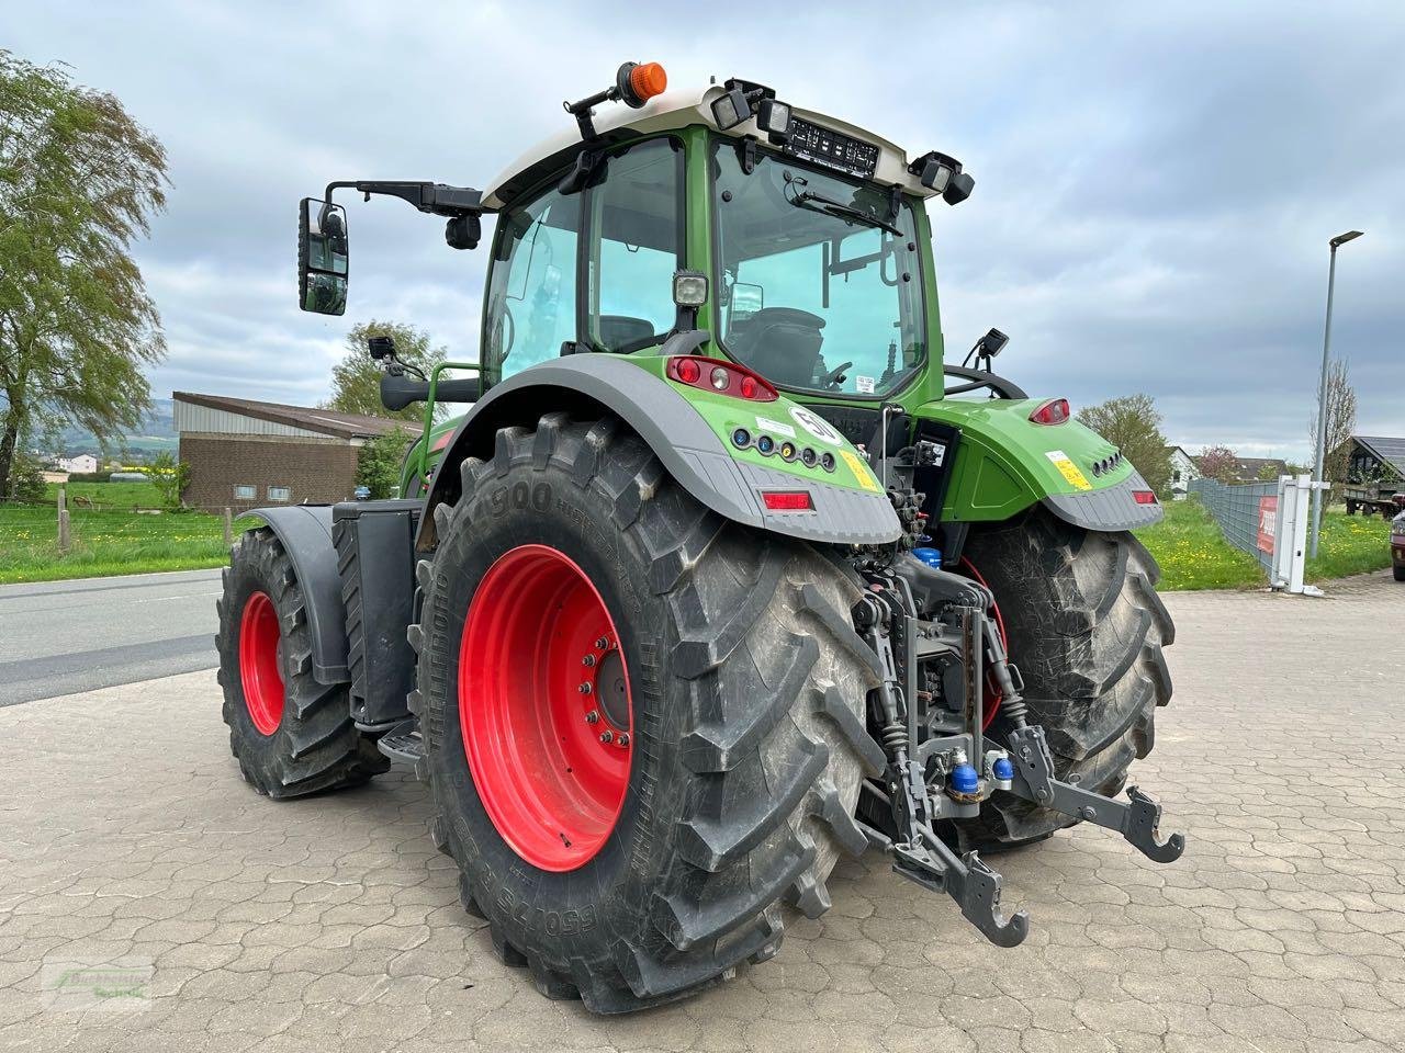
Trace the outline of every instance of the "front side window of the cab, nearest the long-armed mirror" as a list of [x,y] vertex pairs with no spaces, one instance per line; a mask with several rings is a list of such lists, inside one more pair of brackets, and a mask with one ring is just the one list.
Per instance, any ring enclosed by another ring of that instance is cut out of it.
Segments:
[[485,372],[502,380],[576,338],[580,195],[555,190],[506,212],[488,286]]

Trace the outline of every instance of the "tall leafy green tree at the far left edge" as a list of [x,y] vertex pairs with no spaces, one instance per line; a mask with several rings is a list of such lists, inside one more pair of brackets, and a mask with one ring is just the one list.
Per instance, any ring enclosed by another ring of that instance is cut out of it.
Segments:
[[164,149],[114,95],[0,51],[0,496],[21,435],[142,423],[166,343],[129,247],[166,185]]

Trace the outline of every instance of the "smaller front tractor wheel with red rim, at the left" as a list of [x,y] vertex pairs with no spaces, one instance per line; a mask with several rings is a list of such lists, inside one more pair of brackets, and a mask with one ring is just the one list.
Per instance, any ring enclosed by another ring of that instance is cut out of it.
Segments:
[[391,762],[351,723],[346,684],[312,675],[308,611],[282,542],[267,526],[230,552],[219,609],[219,684],[229,748],[270,797],[355,786]]

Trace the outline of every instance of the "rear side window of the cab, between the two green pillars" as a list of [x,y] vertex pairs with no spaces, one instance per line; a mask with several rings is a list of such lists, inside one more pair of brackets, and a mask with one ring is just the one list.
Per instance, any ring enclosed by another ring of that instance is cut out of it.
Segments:
[[[681,267],[683,150],[651,139],[607,161],[590,191],[590,337],[597,348],[638,351],[673,329],[673,272]],[[656,343],[656,341],[655,341]]]

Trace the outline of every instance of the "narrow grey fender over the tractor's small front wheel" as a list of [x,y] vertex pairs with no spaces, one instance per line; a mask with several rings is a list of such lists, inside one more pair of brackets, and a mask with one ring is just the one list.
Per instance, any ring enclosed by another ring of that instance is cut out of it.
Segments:
[[312,636],[312,675],[319,684],[347,682],[347,615],[332,543],[332,505],[254,508],[249,515],[268,524],[292,560]]

